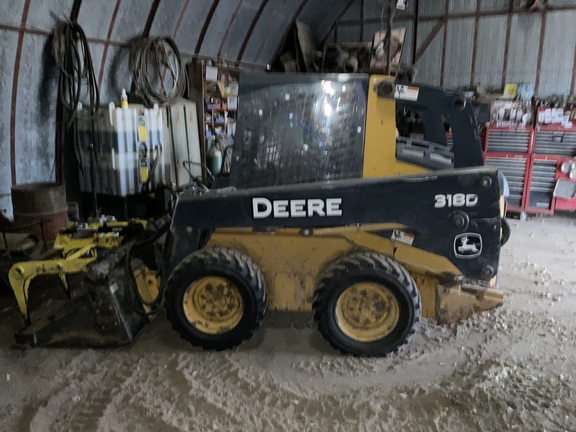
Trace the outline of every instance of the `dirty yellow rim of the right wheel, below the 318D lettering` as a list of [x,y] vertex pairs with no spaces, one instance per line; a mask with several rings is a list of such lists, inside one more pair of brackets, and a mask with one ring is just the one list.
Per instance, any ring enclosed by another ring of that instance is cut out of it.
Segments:
[[371,282],[346,289],[336,303],[336,323],[349,338],[373,342],[392,333],[400,317],[400,306],[392,291]]

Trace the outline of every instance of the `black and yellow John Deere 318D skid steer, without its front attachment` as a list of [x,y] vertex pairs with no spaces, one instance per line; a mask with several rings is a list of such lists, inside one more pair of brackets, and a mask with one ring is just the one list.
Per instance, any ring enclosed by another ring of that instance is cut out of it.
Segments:
[[507,184],[461,95],[363,75],[240,88],[237,189],[182,195],[173,215],[166,308],[183,338],[232,348],[267,308],[313,311],[334,348],[382,356],[421,317],[502,304]]

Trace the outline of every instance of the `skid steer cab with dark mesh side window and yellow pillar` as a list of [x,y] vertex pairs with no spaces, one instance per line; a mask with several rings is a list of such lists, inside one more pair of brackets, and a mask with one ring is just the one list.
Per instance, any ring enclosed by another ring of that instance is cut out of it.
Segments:
[[459,93],[390,79],[241,75],[230,185],[383,177],[484,164],[472,107]]

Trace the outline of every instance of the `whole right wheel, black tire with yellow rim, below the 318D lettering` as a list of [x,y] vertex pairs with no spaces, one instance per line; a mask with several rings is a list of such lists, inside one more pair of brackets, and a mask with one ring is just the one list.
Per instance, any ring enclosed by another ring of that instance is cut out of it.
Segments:
[[344,354],[383,357],[408,343],[420,324],[420,295],[393,258],[361,252],[328,266],[314,294],[314,319]]

